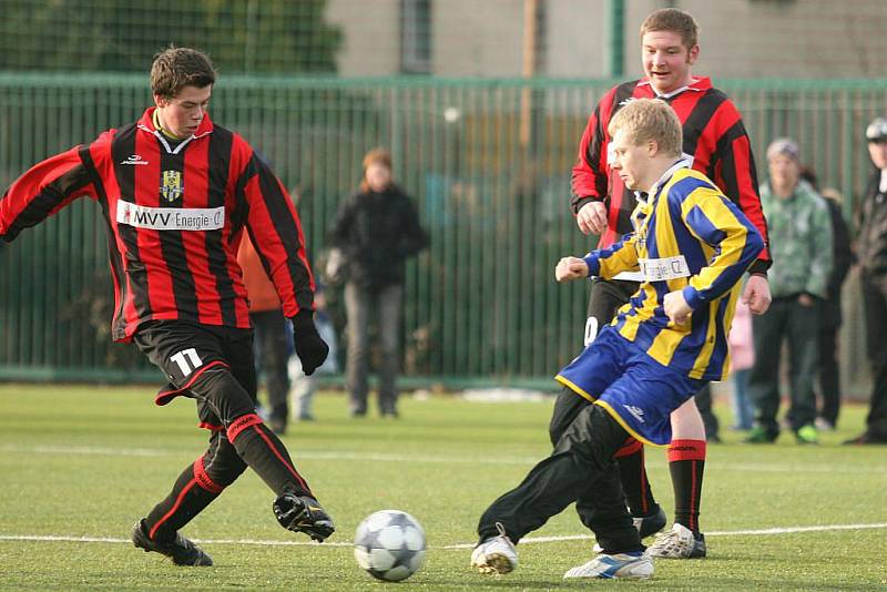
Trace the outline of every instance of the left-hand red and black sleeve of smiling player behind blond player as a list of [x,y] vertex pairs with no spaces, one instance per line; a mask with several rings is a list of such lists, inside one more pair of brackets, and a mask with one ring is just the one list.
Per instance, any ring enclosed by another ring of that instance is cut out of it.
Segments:
[[573,195],[570,200],[573,214],[588,202],[606,197],[606,146],[610,143],[606,126],[610,124],[616,88],[613,88],[601,99],[579,142],[572,176]]

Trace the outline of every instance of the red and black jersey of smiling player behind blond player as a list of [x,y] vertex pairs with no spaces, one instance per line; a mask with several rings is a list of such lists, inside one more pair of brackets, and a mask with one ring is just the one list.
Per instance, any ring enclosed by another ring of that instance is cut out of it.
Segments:
[[[610,167],[611,139],[606,129],[628,101],[654,98],[656,93],[646,79],[614,86],[598,103],[582,134],[573,166],[571,205],[575,214],[589,202],[606,201],[608,225],[599,248],[609,247],[631,232],[631,213],[636,205],[634,193]],[[683,152],[693,159],[693,169],[714,181],[768,244],[752,146],[736,106],[712,86],[708,78],[694,78],[683,92],[662,99],[683,124]],[[769,264],[769,249],[765,246],[750,271],[765,271]]]

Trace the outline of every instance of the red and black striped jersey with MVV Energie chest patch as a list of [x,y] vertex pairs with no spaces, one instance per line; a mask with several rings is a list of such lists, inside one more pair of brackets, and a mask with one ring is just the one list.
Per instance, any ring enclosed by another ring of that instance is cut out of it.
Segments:
[[112,335],[151,319],[249,327],[237,265],[244,228],[292,317],[314,307],[302,225],[281,181],[246,141],[204,116],[171,143],[153,123],[102,133],[38,163],[0,198],[0,236],[13,239],[73,200],[98,201],[115,293]]

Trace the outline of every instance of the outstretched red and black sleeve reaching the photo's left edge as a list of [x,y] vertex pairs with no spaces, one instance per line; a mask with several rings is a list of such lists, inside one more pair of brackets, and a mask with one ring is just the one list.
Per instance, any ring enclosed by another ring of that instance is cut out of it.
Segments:
[[84,195],[94,195],[94,171],[86,167],[74,146],[33,165],[16,180],[0,198],[0,236],[12,241],[21,231],[45,218]]

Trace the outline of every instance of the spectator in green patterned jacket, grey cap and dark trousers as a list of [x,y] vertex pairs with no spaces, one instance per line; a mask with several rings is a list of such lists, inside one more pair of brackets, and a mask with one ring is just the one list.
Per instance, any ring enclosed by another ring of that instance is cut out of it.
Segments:
[[823,198],[801,180],[801,151],[793,140],[774,141],[767,164],[769,178],[761,186],[761,202],[769,225],[773,303],[766,315],[754,318],[756,359],[748,388],[756,417],[746,441],[773,442],[779,435],[779,357],[787,340],[792,406],[786,417],[798,443],[816,443],[813,377],[822,300],[832,272],[832,223]]

